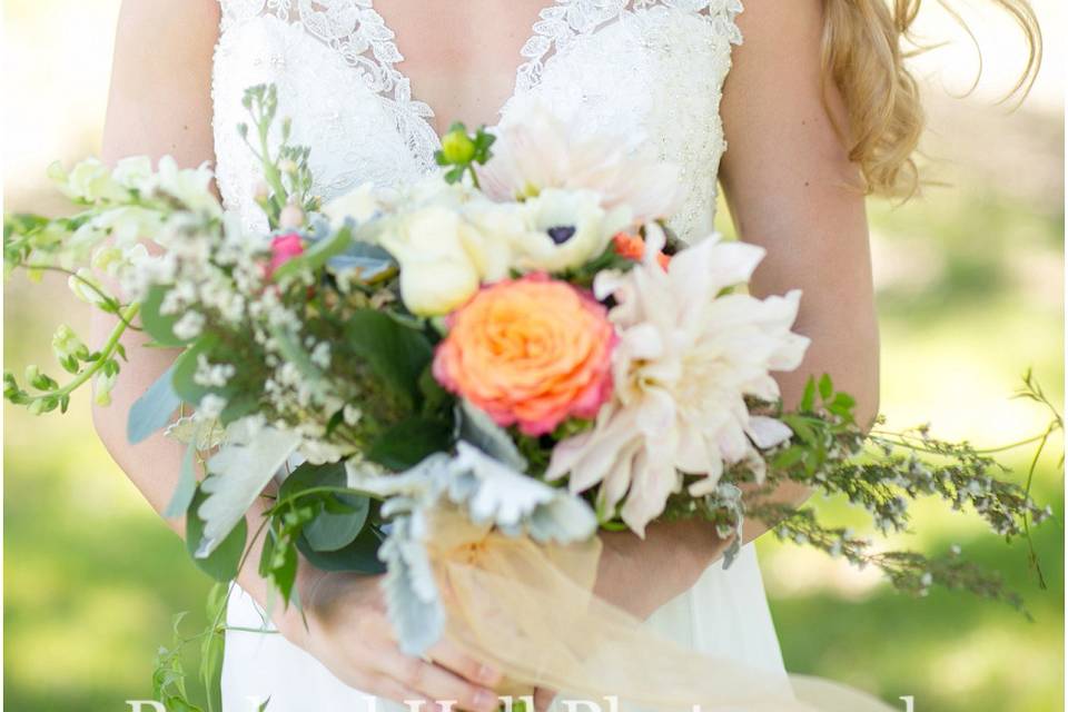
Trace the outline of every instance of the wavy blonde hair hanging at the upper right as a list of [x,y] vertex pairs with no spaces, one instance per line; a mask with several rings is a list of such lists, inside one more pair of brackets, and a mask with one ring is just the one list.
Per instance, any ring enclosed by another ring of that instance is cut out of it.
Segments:
[[[869,194],[908,199],[919,188],[914,156],[924,116],[919,86],[904,62],[927,49],[912,33],[921,1],[823,3],[823,78],[824,82],[834,82],[844,102],[847,126],[837,128]],[[1024,71],[1006,96],[1022,99],[1041,63],[1041,30],[1028,0],[990,1],[1016,21],[1027,40],[1029,55]],[[967,31],[948,0],[938,2]]]

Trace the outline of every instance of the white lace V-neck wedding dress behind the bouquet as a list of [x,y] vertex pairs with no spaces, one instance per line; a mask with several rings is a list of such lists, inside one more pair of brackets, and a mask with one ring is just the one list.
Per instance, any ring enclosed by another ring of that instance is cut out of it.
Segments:
[[[312,147],[317,190],[337,196],[364,181],[392,184],[433,169],[437,137],[428,106],[413,96],[394,34],[372,0],[220,0],[222,34],[215,59],[215,141],[219,189],[249,227],[264,227],[253,191],[258,171],[238,137],[241,95],[278,86],[280,113],[295,141]],[[726,148],[719,106],[731,67],[740,0],[546,0],[517,58],[514,98],[535,93],[571,125],[623,136],[682,167],[683,208],[673,227],[703,237],[715,214],[716,171]],[[513,101],[506,103],[506,115]],[[263,616],[240,591],[231,625]],[[782,656],[753,547],[729,571],[715,565],[650,621],[696,651],[742,661],[784,679]],[[222,691],[226,712],[368,710],[279,635],[230,632]],[[377,701],[378,710],[389,704]],[[402,708],[403,709],[403,708]]]

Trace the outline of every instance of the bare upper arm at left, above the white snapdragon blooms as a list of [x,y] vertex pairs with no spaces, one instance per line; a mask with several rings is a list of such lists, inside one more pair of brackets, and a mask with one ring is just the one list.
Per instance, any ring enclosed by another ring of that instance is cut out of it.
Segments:
[[210,160],[211,62],[218,0],[123,0],[105,126],[108,160]]

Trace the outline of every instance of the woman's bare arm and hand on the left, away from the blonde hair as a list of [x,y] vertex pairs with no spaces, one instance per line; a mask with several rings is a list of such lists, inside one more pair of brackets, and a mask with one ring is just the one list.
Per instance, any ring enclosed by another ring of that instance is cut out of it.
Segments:
[[[181,166],[198,166],[214,157],[211,131],[211,57],[218,38],[217,0],[126,0],[120,12],[111,93],[103,139],[103,158],[171,155]],[[112,317],[95,314],[93,343],[115,327]],[[108,407],[97,407],[93,421],[111,456],[157,512],[162,512],[178,482],[181,446],[161,435],[130,445],[126,421],[130,406],[170,366],[176,353],[141,348],[145,339],[127,333],[129,363]],[[264,506],[248,512],[256,531]],[[168,522],[179,535],[181,520]],[[241,587],[261,605],[268,584],[256,572],[260,542],[251,543],[238,576]],[[385,617],[377,577],[326,576],[300,563],[298,589],[307,625],[294,606],[275,606],[284,635],[308,650],[343,682],[369,694],[403,700],[457,700],[463,709],[496,708],[496,698],[482,685],[497,674],[459,654],[439,647],[429,664],[397,650]],[[266,606],[265,606],[266,607]],[[269,681],[266,681],[269,682]],[[473,684],[479,683],[479,684]]]

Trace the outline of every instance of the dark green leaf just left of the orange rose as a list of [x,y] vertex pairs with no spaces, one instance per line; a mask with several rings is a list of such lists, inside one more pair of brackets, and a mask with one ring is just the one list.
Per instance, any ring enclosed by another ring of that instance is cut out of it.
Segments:
[[434,356],[422,330],[380,312],[360,309],[345,325],[345,338],[394,393],[413,408],[418,404],[419,376]]

